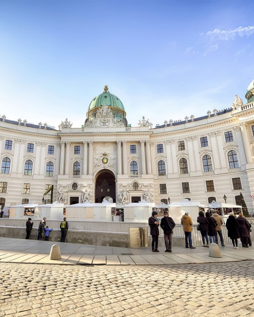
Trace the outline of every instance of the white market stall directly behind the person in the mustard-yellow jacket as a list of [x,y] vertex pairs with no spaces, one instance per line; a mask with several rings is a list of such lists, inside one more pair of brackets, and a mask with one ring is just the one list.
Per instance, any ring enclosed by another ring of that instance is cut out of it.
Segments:
[[182,201],[174,202],[169,205],[169,216],[176,224],[180,224],[184,213],[188,212],[192,222],[197,224],[198,212],[200,210],[206,212],[208,210],[208,206],[202,205],[197,201],[183,199]]

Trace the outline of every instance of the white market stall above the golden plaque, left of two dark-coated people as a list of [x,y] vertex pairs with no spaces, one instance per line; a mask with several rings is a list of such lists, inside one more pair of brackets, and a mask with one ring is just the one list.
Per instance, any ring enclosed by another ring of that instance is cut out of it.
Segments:
[[148,203],[141,200],[139,203],[130,203],[124,205],[124,221],[125,222],[145,222],[151,217],[155,203]]

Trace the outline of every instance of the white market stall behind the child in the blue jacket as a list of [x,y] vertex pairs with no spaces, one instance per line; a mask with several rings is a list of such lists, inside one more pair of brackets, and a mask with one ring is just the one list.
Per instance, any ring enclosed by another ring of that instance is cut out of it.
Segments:
[[47,220],[59,220],[63,219],[64,204],[60,204],[57,201],[53,204],[43,204],[35,207],[34,219],[42,219],[46,217]]

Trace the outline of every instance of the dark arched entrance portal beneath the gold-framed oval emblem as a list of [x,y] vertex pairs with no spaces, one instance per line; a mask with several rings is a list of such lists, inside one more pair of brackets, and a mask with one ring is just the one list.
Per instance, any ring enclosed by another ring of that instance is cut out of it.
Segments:
[[95,203],[102,203],[103,199],[111,197],[116,202],[116,180],[111,171],[104,170],[97,174],[95,180]]

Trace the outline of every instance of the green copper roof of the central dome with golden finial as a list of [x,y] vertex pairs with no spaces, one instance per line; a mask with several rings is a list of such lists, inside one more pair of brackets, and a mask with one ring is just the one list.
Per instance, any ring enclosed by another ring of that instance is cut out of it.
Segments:
[[124,105],[122,101],[117,96],[110,94],[108,91],[108,86],[105,86],[104,92],[102,94],[99,94],[91,101],[88,111],[96,107],[104,106],[104,104],[106,106],[116,107],[124,111]]

